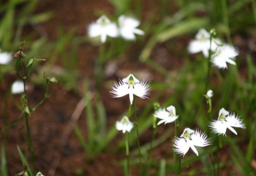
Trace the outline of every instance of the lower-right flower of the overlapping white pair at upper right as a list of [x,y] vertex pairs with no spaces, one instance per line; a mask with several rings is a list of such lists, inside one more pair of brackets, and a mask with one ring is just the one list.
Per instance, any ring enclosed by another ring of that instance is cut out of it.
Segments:
[[228,44],[217,47],[215,53],[212,55],[211,62],[219,69],[228,68],[227,63],[236,65],[235,61],[231,58],[236,57],[238,51]]

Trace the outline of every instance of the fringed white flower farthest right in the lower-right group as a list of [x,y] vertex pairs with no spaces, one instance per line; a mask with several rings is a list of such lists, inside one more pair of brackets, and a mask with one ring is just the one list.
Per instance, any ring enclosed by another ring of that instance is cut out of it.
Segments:
[[237,132],[232,127],[238,127],[245,129],[245,124],[243,123],[243,120],[240,119],[238,116],[236,116],[234,113],[229,114],[228,111],[226,111],[224,108],[222,108],[219,111],[219,117],[218,120],[213,120],[209,123],[209,127],[211,128],[213,133],[216,133],[218,135],[223,134],[223,136],[226,136],[227,128],[234,132],[237,135]]

